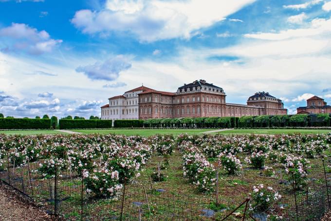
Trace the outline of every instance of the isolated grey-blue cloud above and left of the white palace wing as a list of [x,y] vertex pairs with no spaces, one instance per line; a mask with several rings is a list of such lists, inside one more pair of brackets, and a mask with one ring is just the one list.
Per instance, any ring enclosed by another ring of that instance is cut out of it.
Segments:
[[122,55],[108,59],[105,62],[96,62],[94,65],[79,66],[76,68],[77,72],[84,73],[92,80],[116,80],[119,73],[123,70],[131,68],[128,59]]

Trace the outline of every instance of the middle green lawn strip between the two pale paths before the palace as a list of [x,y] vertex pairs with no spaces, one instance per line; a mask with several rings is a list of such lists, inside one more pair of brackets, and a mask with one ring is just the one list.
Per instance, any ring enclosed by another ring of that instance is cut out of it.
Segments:
[[120,135],[140,135],[152,136],[156,134],[172,134],[174,136],[180,134],[200,134],[204,131],[212,131],[215,129],[108,129],[108,130],[71,130],[83,134],[120,134]]

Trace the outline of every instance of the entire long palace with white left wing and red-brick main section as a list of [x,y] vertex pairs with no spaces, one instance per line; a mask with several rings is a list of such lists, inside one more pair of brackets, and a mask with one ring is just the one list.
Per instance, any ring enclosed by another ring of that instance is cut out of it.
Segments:
[[[241,117],[286,115],[280,99],[258,92],[245,104],[226,103],[221,87],[197,80],[179,87],[177,92],[154,90],[145,86],[109,99],[101,107],[101,119],[150,119],[184,117]],[[133,104],[130,104],[133,101]]]

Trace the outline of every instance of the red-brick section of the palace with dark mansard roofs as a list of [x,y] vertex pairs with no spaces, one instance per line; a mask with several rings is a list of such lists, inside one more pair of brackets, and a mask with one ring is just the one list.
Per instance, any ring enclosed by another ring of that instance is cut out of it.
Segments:
[[224,90],[204,80],[184,84],[175,93],[147,89],[138,97],[139,119],[287,114],[282,101],[266,92],[249,97],[247,105],[226,103]]

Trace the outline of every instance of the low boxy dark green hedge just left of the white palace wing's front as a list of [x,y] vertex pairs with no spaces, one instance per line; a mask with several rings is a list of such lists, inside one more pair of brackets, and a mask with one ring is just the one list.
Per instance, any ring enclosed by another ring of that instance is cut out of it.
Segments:
[[112,120],[60,119],[60,129],[111,128]]

